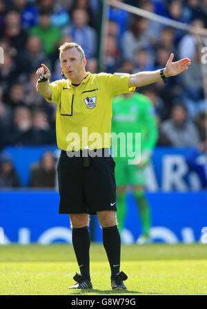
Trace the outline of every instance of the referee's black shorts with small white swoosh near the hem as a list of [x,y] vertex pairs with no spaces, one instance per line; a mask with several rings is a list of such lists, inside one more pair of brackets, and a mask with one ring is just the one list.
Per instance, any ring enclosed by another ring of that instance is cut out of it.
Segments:
[[89,167],[83,167],[83,160],[61,151],[57,164],[59,214],[117,211],[115,161],[111,156],[95,156],[90,157]]

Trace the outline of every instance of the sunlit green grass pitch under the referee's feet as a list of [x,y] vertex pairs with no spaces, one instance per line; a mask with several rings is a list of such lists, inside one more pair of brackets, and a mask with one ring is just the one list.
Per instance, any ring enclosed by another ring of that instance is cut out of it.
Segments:
[[79,269],[72,245],[1,245],[1,295],[207,294],[207,245],[122,245],[128,290],[111,290],[103,245],[90,247],[92,290],[68,290]]

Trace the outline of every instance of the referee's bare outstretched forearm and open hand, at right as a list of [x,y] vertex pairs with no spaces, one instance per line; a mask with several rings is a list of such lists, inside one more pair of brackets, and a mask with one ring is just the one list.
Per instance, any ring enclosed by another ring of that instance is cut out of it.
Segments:
[[[165,77],[175,76],[188,70],[188,66],[190,65],[190,59],[184,58],[177,62],[172,62],[173,58],[174,54],[171,54],[166,64],[166,67],[164,68]],[[130,76],[128,80],[128,86],[129,88],[140,87],[152,84],[154,82],[158,82],[159,80],[161,80],[160,70],[151,72],[139,72]]]

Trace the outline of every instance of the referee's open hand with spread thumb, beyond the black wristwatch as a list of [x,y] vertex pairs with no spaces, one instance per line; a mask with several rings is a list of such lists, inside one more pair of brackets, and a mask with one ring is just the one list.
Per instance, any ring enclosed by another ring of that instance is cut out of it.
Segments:
[[172,62],[174,58],[174,54],[171,54],[166,67],[164,68],[164,75],[166,77],[178,75],[186,70],[188,70],[188,66],[190,65],[190,59],[184,58],[177,62]]

